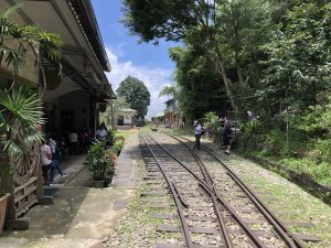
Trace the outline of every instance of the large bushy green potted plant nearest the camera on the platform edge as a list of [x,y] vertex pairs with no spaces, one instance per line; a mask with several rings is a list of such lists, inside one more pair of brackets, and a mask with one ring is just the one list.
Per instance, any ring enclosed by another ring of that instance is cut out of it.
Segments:
[[93,175],[94,185],[96,187],[104,186],[106,175],[109,171],[111,171],[113,166],[104,143],[96,142],[89,148],[86,162],[84,164],[87,171]]

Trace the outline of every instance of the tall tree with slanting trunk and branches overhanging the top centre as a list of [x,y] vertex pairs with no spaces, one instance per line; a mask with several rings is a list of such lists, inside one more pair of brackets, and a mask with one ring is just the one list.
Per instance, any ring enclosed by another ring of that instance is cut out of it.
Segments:
[[252,78],[245,72],[252,62],[249,55],[268,34],[268,1],[125,0],[124,11],[126,26],[143,42],[184,41],[204,50],[203,56],[222,78],[232,108],[238,110],[236,99],[239,94],[247,95]]

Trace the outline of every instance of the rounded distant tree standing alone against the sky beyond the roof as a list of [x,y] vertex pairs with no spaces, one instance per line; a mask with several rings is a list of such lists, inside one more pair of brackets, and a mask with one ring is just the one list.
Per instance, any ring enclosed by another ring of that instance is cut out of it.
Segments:
[[150,93],[143,82],[136,77],[128,76],[120,83],[116,93],[118,96],[124,97],[130,108],[137,110],[138,117],[143,120],[148,111],[148,106],[150,105]]

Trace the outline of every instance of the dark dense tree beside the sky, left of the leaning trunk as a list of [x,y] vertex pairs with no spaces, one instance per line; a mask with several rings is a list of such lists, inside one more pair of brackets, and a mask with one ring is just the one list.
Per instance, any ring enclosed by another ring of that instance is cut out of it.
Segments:
[[206,111],[221,115],[229,107],[213,62],[204,51],[179,46],[170,50],[170,57],[177,63],[177,97],[185,117],[201,118]]

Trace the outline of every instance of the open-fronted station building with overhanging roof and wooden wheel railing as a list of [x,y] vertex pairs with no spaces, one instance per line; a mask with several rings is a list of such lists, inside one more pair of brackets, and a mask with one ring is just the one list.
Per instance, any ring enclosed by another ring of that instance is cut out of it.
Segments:
[[[40,93],[46,118],[44,132],[66,136],[86,128],[95,133],[99,112],[116,98],[105,72],[111,67],[98,29],[90,0],[1,0],[0,12],[23,2],[12,20],[18,24],[35,24],[57,33],[64,41],[61,63],[42,60],[45,78],[36,68],[36,56],[28,51],[26,64],[19,69],[22,84]],[[11,84],[11,67],[0,65],[0,87]],[[47,84],[43,83],[46,79]],[[45,86],[45,87],[44,87]],[[13,185],[7,219],[15,219],[42,197],[39,150],[14,164]]]

